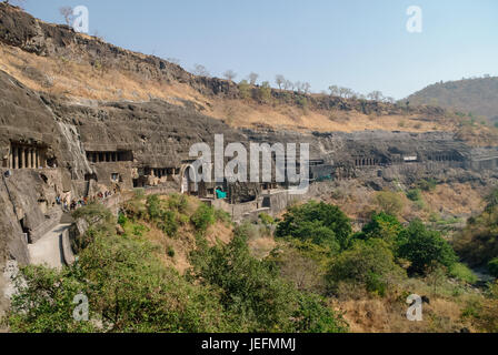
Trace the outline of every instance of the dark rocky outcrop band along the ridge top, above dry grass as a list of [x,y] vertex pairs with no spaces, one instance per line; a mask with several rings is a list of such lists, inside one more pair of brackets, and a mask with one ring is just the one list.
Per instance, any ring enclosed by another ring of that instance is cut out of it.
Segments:
[[[76,33],[68,26],[40,21],[29,13],[11,6],[0,3],[0,42],[40,57],[63,58],[76,63],[113,68],[120,72],[139,75],[152,82],[186,83],[206,95],[223,99],[240,98],[237,83],[219,78],[193,75],[181,67],[155,55],[132,52],[96,37]],[[42,73],[41,73],[42,74]],[[252,88],[251,91],[258,91]],[[276,101],[291,105],[306,105],[312,110],[357,111],[365,114],[399,114],[407,110],[415,114],[429,115],[434,119],[444,116],[445,111],[435,106],[398,106],[396,104],[367,100],[343,99],[322,94],[305,94],[293,91],[271,90]],[[257,94],[252,94],[257,97]]]

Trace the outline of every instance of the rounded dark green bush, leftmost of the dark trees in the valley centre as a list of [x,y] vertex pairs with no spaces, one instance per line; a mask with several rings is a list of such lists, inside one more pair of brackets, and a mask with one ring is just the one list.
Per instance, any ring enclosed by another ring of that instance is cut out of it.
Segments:
[[338,206],[311,201],[290,207],[278,224],[276,235],[310,240],[338,250],[349,245],[351,231],[349,219]]

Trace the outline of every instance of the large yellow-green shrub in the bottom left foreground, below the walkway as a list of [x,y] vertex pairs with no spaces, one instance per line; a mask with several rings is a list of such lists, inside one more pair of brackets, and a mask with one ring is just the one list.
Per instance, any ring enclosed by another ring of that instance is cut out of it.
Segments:
[[[13,297],[12,332],[226,332],[219,298],[166,267],[150,243],[98,234],[79,263],[30,266]],[[91,322],[72,318],[73,297],[89,300]]]

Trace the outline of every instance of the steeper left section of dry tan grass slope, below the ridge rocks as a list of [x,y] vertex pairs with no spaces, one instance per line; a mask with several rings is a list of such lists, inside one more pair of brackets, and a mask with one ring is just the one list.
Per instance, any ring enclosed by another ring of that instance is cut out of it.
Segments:
[[146,81],[131,72],[99,69],[63,58],[38,57],[4,44],[0,44],[0,69],[32,90],[72,100],[149,101],[159,98],[172,104],[180,104],[177,99],[197,102],[197,92],[187,84]]

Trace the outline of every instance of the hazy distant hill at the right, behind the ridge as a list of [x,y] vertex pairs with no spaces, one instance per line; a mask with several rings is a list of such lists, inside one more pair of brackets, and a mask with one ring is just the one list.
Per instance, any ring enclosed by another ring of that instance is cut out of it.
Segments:
[[410,104],[434,104],[498,122],[498,77],[464,79],[429,85],[408,98]]

